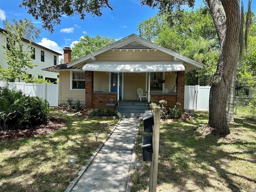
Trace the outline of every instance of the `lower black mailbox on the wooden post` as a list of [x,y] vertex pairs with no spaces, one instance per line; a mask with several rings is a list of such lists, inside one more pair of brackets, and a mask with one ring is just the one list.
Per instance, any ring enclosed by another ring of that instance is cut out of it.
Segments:
[[152,161],[153,146],[151,135],[143,137],[141,148],[143,153],[143,161]]

